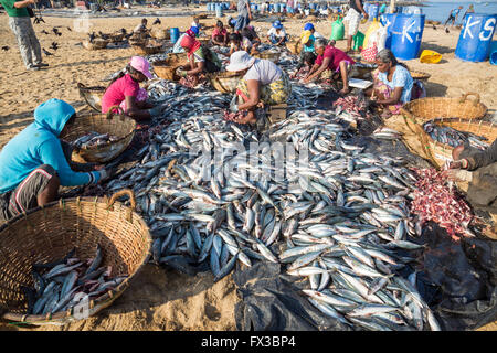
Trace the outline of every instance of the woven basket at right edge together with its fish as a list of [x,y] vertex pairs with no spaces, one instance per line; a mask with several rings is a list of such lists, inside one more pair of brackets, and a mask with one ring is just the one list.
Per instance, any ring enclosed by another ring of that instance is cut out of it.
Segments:
[[469,145],[484,150],[497,138],[497,126],[483,120],[434,119],[423,125],[421,142],[433,164],[443,168],[452,161],[452,150],[459,145]]

